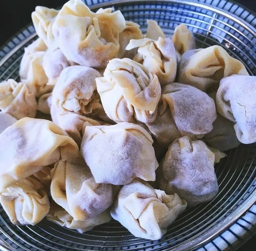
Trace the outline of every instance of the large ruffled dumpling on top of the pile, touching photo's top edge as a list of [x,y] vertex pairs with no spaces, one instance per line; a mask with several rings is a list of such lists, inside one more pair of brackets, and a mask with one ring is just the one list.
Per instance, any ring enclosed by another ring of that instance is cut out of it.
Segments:
[[94,13],[81,0],[70,0],[53,22],[53,34],[68,60],[104,68],[119,51],[119,34],[125,27],[120,10]]

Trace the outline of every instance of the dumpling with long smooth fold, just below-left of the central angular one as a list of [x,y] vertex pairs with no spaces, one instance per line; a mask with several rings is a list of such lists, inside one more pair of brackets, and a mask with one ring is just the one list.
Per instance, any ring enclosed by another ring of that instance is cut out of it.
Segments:
[[58,161],[51,170],[51,196],[75,221],[96,217],[109,208],[118,192],[111,184],[98,184],[90,169],[81,161]]

